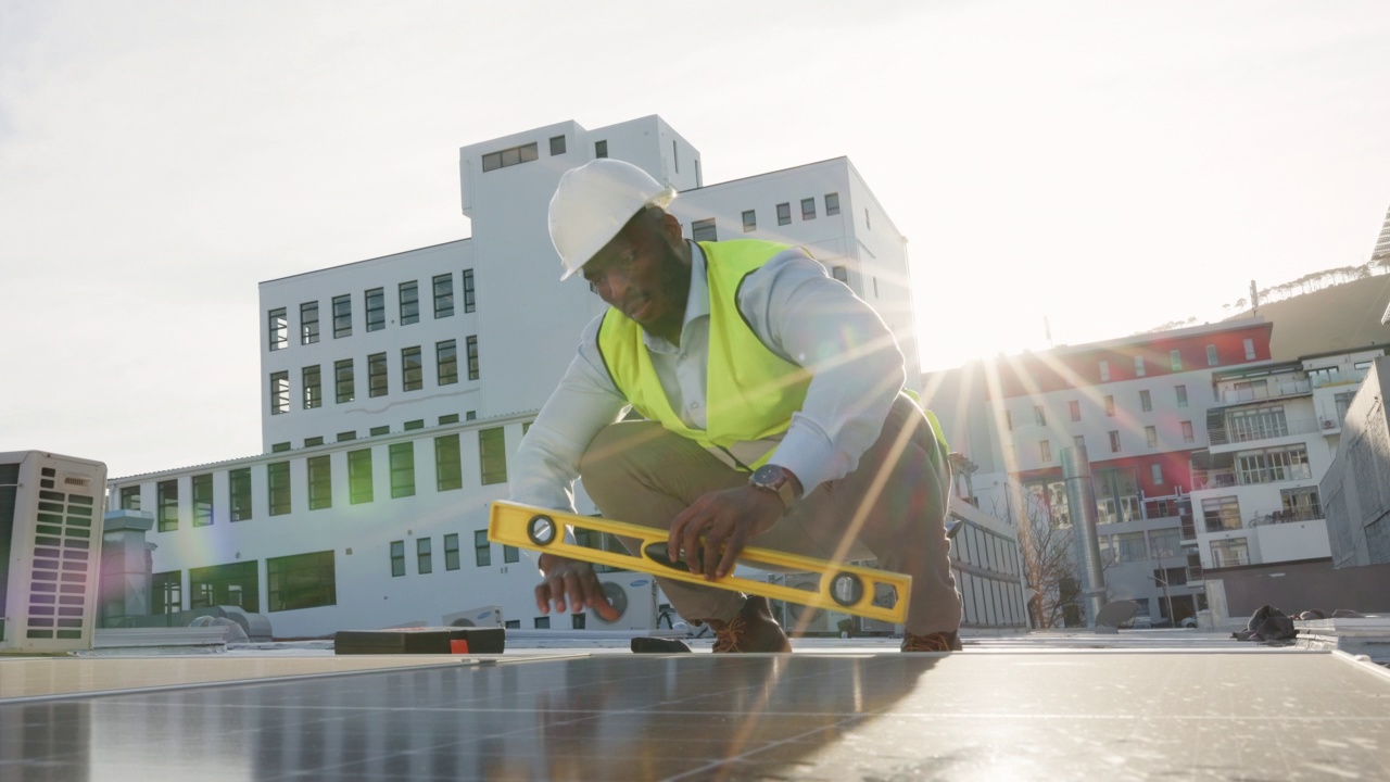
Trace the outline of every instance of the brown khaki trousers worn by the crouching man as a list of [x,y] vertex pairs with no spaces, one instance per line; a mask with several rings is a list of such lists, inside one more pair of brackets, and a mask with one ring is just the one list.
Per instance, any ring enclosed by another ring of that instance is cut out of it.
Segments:
[[[960,596],[944,525],[949,469],[926,416],[909,398],[898,397],[858,469],[816,487],[751,544],[817,559],[874,557],[880,568],[912,576],[909,633],[955,630]],[[605,518],[663,530],[702,494],[748,483],[748,473],[655,422],[605,427],[589,444],[580,472]],[[630,541],[624,544],[631,548]],[[728,621],[744,603],[727,590],[657,582],[689,619]]]

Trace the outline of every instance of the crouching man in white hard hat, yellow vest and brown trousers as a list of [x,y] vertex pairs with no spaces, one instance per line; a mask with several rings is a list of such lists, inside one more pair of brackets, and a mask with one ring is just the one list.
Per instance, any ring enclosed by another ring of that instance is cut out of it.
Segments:
[[[669,529],[673,559],[706,579],[753,544],[876,557],[913,577],[902,648],[959,650],[949,466],[902,394],[892,334],[799,249],[685,241],[673,198],[612,159],[560,178],[549,217],[562,280],[582,274],[610,309],[521,441],[512,498],[573,509],[582,476],[603,516]],[[646,420],[620,422],[630,406]],[[614,616],[588,564],[538,565],[542,614]],[[657,580],[714,629],[714,651],[791,651],[766,598]]]

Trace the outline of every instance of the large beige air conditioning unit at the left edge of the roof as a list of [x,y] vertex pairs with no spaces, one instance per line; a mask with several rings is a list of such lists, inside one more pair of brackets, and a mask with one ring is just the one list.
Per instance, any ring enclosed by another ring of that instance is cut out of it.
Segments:
[[0,454],[0,653],[92,648],[106,465]]

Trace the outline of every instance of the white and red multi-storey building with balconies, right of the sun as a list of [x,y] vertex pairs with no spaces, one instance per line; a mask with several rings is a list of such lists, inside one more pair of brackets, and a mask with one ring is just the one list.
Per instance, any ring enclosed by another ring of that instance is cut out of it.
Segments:
[[[956,408],[992,410],[992,442],[969,454],[986,465],[972,476],[977,502],[1070,526],[1059,454],[1084,448],[1106,598],[1137,600],[1155,621],[1169,603],[1176,621],[1204,608],[1209,569],[1327,558],[1318,481],[1383,351],[1273,362],[1270,334],[1261,319],[1230,320],[990,362],[972,369],[983,377],[942,383],[984,391]],[[952,405],[938,409],[949,431]],[[1011,487],[1029,502],[1006,500]]]

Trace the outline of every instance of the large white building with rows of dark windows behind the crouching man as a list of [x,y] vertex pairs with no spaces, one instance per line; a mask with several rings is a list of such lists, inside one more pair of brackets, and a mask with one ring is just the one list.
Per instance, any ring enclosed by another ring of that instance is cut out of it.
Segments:
[[156,513],[156,612],[238,605],[279,637],[482,605],[549,626],[535,568],[488,543],[486,508],[603,308],[582,280],[559,282],[546,231],[560,174],[603,156],[680,189],[687,235],[806,246],[920,376],[905,238],[848,159],[705,186],[699,152],[655,115],[470,145],[471,238],[260,285],[264,454],[108,481],[111,508]]

